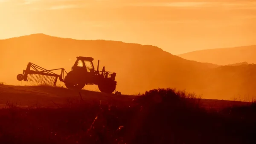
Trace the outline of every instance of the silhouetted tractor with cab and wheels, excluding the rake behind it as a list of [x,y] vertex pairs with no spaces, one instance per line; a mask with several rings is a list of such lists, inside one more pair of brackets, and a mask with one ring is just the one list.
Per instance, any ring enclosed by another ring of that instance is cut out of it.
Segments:
[[[100,73],[101,72],[101,73]],[[93,58],[77,57],[76,62],[64,78],[68,89],[82,89],[85,85],[98,85],[101,92],[112,93],[116,89],[116,73],[106,72],[105,66],[99,71],[94,69]]]

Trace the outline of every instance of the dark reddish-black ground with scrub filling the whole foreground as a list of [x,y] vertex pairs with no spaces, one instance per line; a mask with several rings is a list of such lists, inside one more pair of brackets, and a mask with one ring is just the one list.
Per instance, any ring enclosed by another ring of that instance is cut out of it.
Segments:
[[0,84],[1,144],[253,144],[254,103]]

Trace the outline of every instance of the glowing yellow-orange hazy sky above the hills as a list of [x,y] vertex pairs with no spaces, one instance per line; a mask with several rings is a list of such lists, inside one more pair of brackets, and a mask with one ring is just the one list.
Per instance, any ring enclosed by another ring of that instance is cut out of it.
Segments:
[[0,0],[0,39],[44,33],[172,54],[256,44],[255,0]]

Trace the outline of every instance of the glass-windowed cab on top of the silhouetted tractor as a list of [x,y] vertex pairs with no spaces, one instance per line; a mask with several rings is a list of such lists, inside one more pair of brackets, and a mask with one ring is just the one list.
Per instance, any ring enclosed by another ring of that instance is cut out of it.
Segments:
[[72,70],[83,70],[86,72],[94,72],[93,58],[91,57],[76,57],[76,62],[72,66]]

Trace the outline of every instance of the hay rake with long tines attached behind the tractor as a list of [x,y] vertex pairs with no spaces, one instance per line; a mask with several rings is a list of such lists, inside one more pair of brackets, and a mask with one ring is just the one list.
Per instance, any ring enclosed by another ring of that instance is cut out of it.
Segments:
[[[31,70],[31,68],[33,70]],[[60,70],[61,69],[61,75],[55,74],[52,71]],[[57,80],[59,78],[60,81],[64,81],[64,72],[65,69],[44,69],[34,63],[28,63],[26,70],[23,70],[22,74],[17,75],[18,81],[29,81],[29,82],[35,82],[35,83],[41,83],[41,84],[49,84],[53,86],[56,86]],[[67,72],[66,72],[67,75]]]

